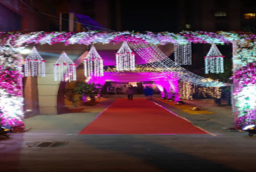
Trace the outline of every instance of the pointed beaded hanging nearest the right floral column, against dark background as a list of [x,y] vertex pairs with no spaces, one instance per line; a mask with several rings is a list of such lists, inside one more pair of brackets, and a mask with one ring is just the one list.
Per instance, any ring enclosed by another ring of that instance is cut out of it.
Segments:
[[223,73],[224,72],[224,58],[217,48],[216,44],[213,43],[209,52],[207,55],[204,57],[204,62],[205,62],[205,73],[209,74],[210,73]]

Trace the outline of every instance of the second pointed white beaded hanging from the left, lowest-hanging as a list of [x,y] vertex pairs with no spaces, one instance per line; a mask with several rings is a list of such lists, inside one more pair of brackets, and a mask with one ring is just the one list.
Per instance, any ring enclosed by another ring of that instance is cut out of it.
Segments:
[[54,64],[55,81],[73,81],[77,80],[76,64],[63,51],[62,55]]

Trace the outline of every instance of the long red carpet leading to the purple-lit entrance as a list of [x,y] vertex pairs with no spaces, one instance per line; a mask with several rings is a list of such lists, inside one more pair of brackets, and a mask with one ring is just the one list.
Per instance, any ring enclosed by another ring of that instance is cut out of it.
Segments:
[[79,134],[209,134],[145,98],[118,98]]

